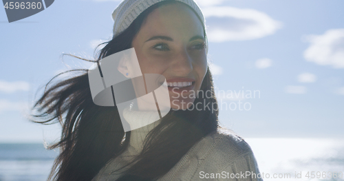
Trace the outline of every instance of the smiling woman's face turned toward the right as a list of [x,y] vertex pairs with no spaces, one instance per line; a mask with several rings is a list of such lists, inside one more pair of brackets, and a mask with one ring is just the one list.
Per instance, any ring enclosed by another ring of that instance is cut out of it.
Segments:
[[204,29],[182,3],[157,8],[133,39],[142,74],[161,74],[169,85],[172,109],[187,109],[207,70]]

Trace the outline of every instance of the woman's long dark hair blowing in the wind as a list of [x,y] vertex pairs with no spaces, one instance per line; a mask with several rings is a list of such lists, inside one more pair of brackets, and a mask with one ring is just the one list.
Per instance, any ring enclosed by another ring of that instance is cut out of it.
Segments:
[[[142,12],[124,32],[111,41],[100,44],[105,47],[98,52],[98,58],[94,62],[129,49],[147,15],[155,8],[173,2],[175,1],[162,1]],[[60,75],[58,74],[47,83],[43,96],[32,107],[36,112],[32,114],[32,121],[35,123],[59,122],[63,127],[61,140],[47,147],[60,148],[48,180],[92,180],[111,158],[116,158],[127,149],[130,140],[131,132],[125,133],[123,130],[117,107],[101,107],[93,103],[87,70],[72,71],[78,71],[80,75],[54,81]],[[201,90],[210,91],[211,98],[199,94],[194,103],[210,104],[213,109],[171,110],[149,132],[136,161],[132,162],[118,180],[160,178],[197,141],[217,130],[217,100],[209,70]]]

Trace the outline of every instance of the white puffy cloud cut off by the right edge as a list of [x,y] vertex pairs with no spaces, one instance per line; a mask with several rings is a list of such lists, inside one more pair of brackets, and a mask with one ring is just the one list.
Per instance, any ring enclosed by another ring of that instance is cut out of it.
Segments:
[[344,29],[327,30],[325,34],[308,35],[308,47],[303,56],[318,65],[344,68]]

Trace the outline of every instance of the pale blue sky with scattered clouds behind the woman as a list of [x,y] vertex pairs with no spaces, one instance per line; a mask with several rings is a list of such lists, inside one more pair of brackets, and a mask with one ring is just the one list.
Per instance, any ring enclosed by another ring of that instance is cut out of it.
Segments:
[[[90,66],[61,54],[92,58],[94,45],[111,39],[118,3],[60,0],[13,23],[0,8],[0,142],[58,138],[57,125],[30,123],[25,111],[52,76]],[[220,109],[222,125],[244,138],[344,137],[344,1],[197,3],[215,87],[227,92],[219,102],[232,106]],[[253,91],[260,96],[242,98]],[[250,109],[239,110],[240,103]]]

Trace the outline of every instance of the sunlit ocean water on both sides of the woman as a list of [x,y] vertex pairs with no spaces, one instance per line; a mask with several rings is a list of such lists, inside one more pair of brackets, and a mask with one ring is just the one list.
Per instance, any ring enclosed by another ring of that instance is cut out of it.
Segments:
[[[264,180],[344,181],[344,139],[245,140],[255,154]],[[57,155],[58,151],[47,151],[43,144],[0,144],[0,181],[47,180]],[[334,178],[334,172],[342,175]]]

